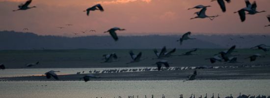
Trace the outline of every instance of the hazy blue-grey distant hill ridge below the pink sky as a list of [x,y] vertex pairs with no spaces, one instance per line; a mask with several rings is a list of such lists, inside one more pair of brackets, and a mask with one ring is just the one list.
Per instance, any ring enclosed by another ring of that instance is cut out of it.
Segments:
[[[114,42],[110,36],[62,37],[40,36],[34,33],[0,31],[0,49],[155,49],[166,46],[178,49],[249,48],[257,44],[269,44],[270,36],[262,35],[191,35],[196,40],[176,42],[181,35],[119,36]],[[231,40],[232,38],[233,40]]]

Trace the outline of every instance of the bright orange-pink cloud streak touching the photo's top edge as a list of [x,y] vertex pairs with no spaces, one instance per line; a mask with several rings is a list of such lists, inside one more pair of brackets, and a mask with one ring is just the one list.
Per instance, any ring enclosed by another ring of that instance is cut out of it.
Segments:
[[96,3],[102,3],[102,4],[119,4],[119,3],[135,2],[135,1],[143,1],[143,2],[149,3],[152,0],[111,0],[111,1],[98,1]]

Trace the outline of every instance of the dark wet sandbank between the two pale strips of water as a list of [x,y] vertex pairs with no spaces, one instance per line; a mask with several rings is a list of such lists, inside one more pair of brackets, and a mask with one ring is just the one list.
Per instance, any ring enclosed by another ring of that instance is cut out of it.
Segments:
[[[128,73],[95,73],[101,78],[91,78],[92,81],[109,80],[186,80],[194,70],[146,71]],[[240,67],[197,70],[196,80],[228,80],[228,79],[270,79],[270,67]],[[80,81],[86,74],[58,75],[58,81]],[[0,81],[57,81],[43,76],[1,77]]]

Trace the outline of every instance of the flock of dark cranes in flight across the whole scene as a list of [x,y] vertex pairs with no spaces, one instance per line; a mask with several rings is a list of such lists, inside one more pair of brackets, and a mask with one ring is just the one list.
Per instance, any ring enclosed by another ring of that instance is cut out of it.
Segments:
[[[32,7],[28,7],[28,5],[31,3],[32,0],[27,0],[27,2],[25,4],[20,4],[18,7],[19,9],[17,10],[13,10],[13,11],[18,11],[18,10],[27,10],[27,9],[31,9],[31,8],[35,8],[36,6],[32,6]],[[211,0],[211,1],[217,1],[222,12],[226,12],[226,6],[225,6],[225,2],[224,0]],[[227,3],[230,3],[231,0],[225,0]],[[245,4],[246,6],[243,7],[242,9],[240,9],[239,11],[236,11],[234,13],[238,13],[239,16],[240,16],[240,19],[242,22],[245,21],[245,15],[246,14],[249,14],[249,15],[254,15],[254,14],[257,14],[257,13],[262,13],[262,12],[266,12],[266,11],[257,11],[257,4],[256,4],[256,1],[254,1],[252,4],[249,2],[249,0],[245,0]],[[210,5],[208,6],[204,6],[204,5],[197,5],[195,7],[192,7],[192,8],[189,8],[188,10],[190,9],[201,9],[199,12],[195,12],[194,14],[196,14],[197,16],[194,17],[194,18],[190,18],[190,20],[192,19],[197,19],[197,18],[201,18],[201,19],[204,19],[204,18],[209,18],[210,20],[214,20],[216,17],[218,17],[219,15],[214,15],[214,16],[208,16],[206,15],[206,10],[208,7],[211,7]],[[104,8],[101,4],[96,4],[92,7],[89,7],[87,8],[86,10],[84,10],[83,12],[86,12],[86,15],[89,16],[90,12],[91,11],[96,11],[96,10],[99,10],[101,12],[104,11]],[[246,13],[247,12],[247,13]],[[270,22],[270,15],[267,16],[269,22]],[[67,26],[72,26],[72,24],[67,24]],[[270,26],[270,25],[265,25],[265,26]],[[65,27],[58,27],[60,29],[62,28],[65,28]],[[28,28],[24,28],[23,30],[28,30]],[[118,41],[119,38],[116,34],[116,31],[119,30],[119,31],[123,31],[123,30],[126,30],[126,29],[123,29],[123,28],[120,28],[120,27],[113,27],[113,28],[110,28],[108,29],[108,31],[105,31],[104,33],[109,33],[110,36],[113,38],[114,41]],[[82,33],[85,33],[87,30],[85,31],[81,31]],[[90,32],[93,31],[93,32],[96,32],[95,30],[89,30]],[[79,34],[79,33],[74,33],[75,35]],[[183,44],[183,42],[185,40],[193,40],[193,39],[196,39],[196,38],[190,38],[189,35],[191,34],[191,32],[187,32],[185,33],[184,35],[182,35],[182,37],[177,40],[178,42],[180,42],[180,45]],[[266,46],[264,44],[262,45],[258,45],[258,46],[255,46],[251,49],[262,49],[264,51],[269,51],[270,49],[267,49],[267,47],[270,47],[270,46]],[[236,48],[236,46],[232,46],[230,49],[228,50],[224,50],[224,51],[221,51],[219,53],[217,53],[214,57],[211,57],[211,58],[207,58],[210,60],[211,63],[215,63],[216,61],[224,61],[226,63],[240,63],[237,61],[237,57],[236,55],[232,55],[232,52],[234,52],[234,49]],[[185,56],[185,55],[194,55],[192,54],[192,52],[196,51],[197,49],[192,49],[184,54],[181,54],[181,55],[178,55],[178,56]],[[154,53],[155,55],[157,56],[158,59],[162,59],[164,57],[170,57],[170,56],[175,56],[175,55],[172,55],[174,52],[176,51],[176,49],[172,49],[170,51],[167,51],[166,47],[163,47],[161,51],[158,51],[157,49],[154,49]],[[141,59],[142,57],[142,52],[139,52],[138,54],[135,54],[133,51],[130,51],[130,56],[132,58],[132,61],[127,63],[127,64],[130,64],[130,63],[135,63],[135,62],[139,62],[141,60],[144,60],[144,59],[147,59],[147,58],[143,58]],[[246,59],[250,59],[250,61],[255,61],[257,57],[264,57],[265,55],[261,55],[261,54],[254,54],[254,55],[251,55],[249,57],[247,57]],[[103,55],[105,61],[103,63],[110,63],[110,62],[114,62],[114,61],[119,61],[118,60],[118,57],[115,53],[111,53],[111,54],[104,54]],[[34,63],[34,64],[28,64],[27,67],[31,67],[31,66],[34,66],[34,65],[38,65],[39,62],[37,63]],[[168,63],[167,60],[161,60],[161,61],[158,61],[156,62],[154,65],[157,65],[158,67],[158,70],[161,70],[162,68],[162,65],[164,65],[166,68],[169,68],[169,64],[171,63]],[[5,69],[4,65],[0,65],[0,68],[1,69]],[[55,79],[59,79],[56,75],[56,72],[59,72],[59,71],[49,71],[46,74],[46,77],[47,78],[51,78],[51,77],[54,77]],[[190,76],[188,76],[188,80],[193,80],[195,79],[195,76],[197,75],[197,72],[194,71],[194,73]],[[93,74],[87,74],[85,75],[84,77],[82,77],[81,79],[84,79],[84,81],[88,81],[89,78],[92,77],[92,78],[100,78],[99,76],[95,76]],[[191,95],[192,96],[192,95]],[[243,97],[244,98],[244,97]]]

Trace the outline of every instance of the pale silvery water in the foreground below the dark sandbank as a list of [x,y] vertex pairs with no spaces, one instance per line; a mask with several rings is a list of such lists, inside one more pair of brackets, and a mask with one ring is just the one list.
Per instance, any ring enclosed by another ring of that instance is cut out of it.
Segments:
[[[43,85],[43,86],[42,86]],[[47,85],[47,86],[45,86]],[[1,98],[127,98],[129,95],[138,95],[139,98],[189,98],[195,94],[208,98],[212,93],[219,93],[220,98],[239,93],[245,95],[270,96],[270,80],[195,80],[182,82],[178,80],[162,81],[19,81],[0,82]]]

